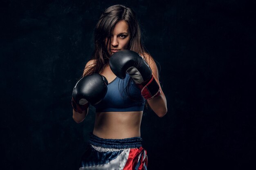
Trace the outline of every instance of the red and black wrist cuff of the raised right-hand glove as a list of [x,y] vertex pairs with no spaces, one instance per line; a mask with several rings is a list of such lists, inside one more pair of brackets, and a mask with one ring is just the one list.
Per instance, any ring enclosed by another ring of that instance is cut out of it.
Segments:
[[161,94],[159,85],[155,81],[155,78],[153,77],[153,75],[146,82],[137,84],[137,86],[141,89],[141,95],[145,99],[152,99]]

